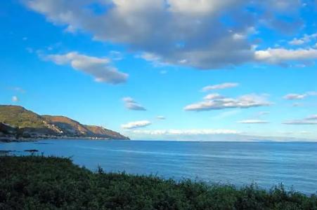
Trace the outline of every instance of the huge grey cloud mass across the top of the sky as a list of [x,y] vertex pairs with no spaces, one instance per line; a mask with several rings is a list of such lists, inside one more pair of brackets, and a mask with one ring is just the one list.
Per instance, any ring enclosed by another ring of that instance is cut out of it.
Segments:
[[[96,13],[91,4],[103,12]],[[296,29],[295,22],[278,14],[299,8],[293,0],[25,0],[25,5],[66,31],[86,31],[95,40],[124,44],[154,62],[199,69],[254,61],[249,38],[254,28]],[[255,60],[263,61],[262,54],[257,52]]]

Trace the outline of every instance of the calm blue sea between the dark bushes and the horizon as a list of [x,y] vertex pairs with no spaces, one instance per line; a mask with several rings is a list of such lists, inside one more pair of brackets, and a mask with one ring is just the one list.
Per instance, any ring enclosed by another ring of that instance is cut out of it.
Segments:
[[72,157],[77,165],[106,172],[157,174],[236,186],[283,183],[317,191],[317,143],[44,140],[0,143],[0,150]]

